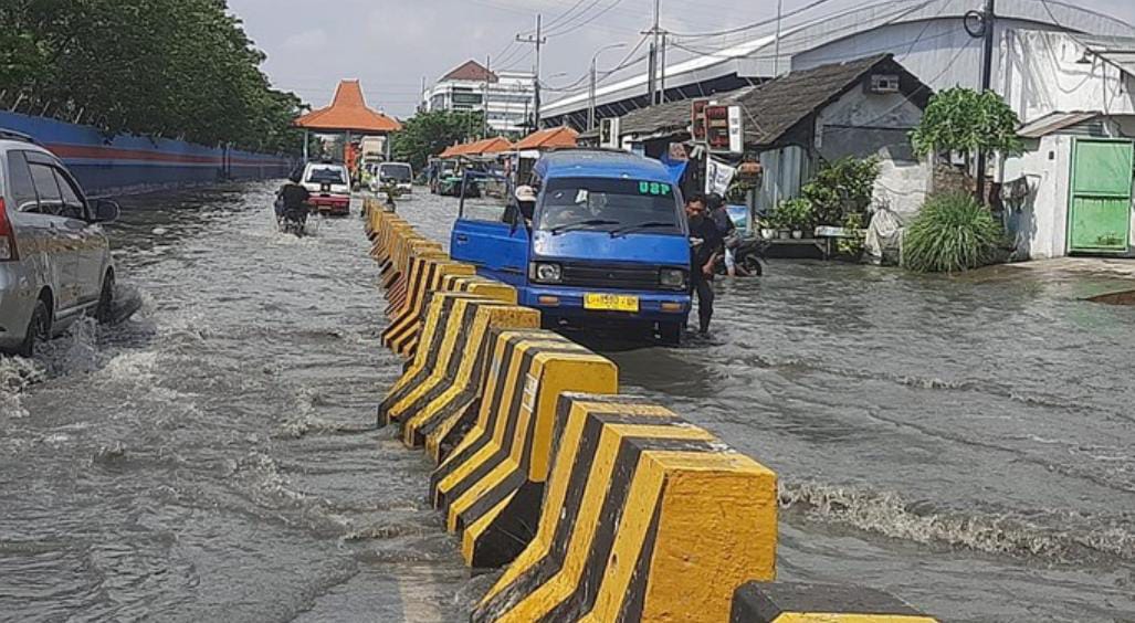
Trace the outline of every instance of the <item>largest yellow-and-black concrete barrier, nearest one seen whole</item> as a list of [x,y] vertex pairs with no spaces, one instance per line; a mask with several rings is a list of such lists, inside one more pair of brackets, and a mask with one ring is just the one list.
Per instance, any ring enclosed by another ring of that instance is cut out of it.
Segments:
[[642,399],[561,401],[537,536],[472,621],[726,621],[774,578],[773,472]]

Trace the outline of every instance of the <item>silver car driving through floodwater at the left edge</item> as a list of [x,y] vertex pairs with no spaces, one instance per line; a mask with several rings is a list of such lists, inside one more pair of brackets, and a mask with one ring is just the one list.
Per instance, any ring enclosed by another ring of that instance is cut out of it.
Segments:
[[86,199],[32,138],[0,128],[0,350],[31,356],[84,314],[110,319],[115,267],[100,224],[118,211]]

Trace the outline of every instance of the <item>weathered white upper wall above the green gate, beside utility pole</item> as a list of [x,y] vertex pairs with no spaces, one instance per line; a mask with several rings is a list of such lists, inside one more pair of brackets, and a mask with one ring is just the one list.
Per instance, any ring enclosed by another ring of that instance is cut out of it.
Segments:
[[1023,123],[1053,111],[1135,113],[1135,79],[1092,54],[1078,62],[1084,47],[1065,33],[1009,31],[1001,52],[998,87]]

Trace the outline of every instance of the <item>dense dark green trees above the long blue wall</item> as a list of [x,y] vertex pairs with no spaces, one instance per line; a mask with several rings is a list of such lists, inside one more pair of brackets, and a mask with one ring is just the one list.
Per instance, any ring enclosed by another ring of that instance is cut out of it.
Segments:
[[108,134],[299,151],[263,60],[226,0],[0,2],[0,104]]

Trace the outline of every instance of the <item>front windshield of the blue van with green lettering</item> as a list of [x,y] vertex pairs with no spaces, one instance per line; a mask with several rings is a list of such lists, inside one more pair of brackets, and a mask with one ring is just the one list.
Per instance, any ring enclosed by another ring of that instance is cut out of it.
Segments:
[[682,230],[678,199],[670,184],[599,177],[548,180],[536,227],[552,233]]

